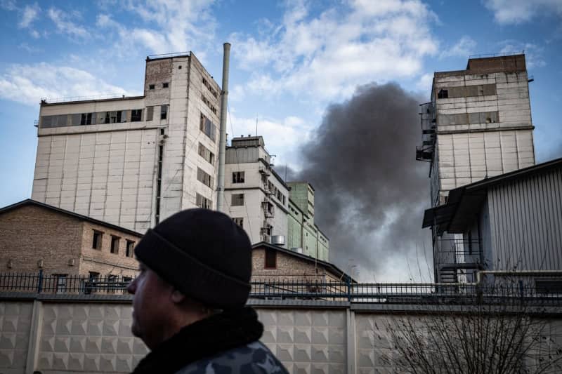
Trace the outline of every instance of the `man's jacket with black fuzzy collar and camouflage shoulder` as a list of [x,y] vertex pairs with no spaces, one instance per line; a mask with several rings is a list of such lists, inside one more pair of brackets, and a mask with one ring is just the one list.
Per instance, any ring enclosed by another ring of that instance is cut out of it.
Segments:
[[142,359],[133,374],[286,374],[259,342],[263,325],[254,309],[215,314],[182,328]]

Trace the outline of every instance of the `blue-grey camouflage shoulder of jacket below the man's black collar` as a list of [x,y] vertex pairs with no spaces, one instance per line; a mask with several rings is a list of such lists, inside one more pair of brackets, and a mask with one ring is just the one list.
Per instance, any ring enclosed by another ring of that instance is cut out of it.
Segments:
[[261,342],[251,342],[215,356],[192,362],[176,374],[288,374]]

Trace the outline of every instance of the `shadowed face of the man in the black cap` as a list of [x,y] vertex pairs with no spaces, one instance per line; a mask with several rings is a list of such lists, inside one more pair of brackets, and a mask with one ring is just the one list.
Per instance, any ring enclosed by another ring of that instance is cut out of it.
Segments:
[[153,349],[165,339],[172,307],[170,294],[174,289],[142,262],[139,270],[140,274],[127,287],[134,295],[131,331]]

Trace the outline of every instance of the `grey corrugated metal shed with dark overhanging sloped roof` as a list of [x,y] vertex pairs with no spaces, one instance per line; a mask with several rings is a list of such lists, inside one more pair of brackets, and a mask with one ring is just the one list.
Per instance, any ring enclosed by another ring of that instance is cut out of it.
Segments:
[[424,215],[424,227],[433,227],[438,235],[457,234],[462,243],[452,262],[438,253],[439,272],[455,271],[473,281],[477,270],[537,279],[558,271],[559,282],[562,159],[457,187],[448,196],[447,203]]

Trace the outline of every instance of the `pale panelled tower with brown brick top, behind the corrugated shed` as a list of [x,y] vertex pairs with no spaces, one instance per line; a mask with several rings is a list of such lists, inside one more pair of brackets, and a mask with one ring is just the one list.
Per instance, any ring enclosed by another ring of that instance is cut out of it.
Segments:
[[[528,81],[525,55],[471,58],[465,70],[435,73],[416,152],[430,163],[431,206],[451,189],[535,164]],[[454,262],[459,239],[433,229],[436,281],[457,280],[438,269]]]

